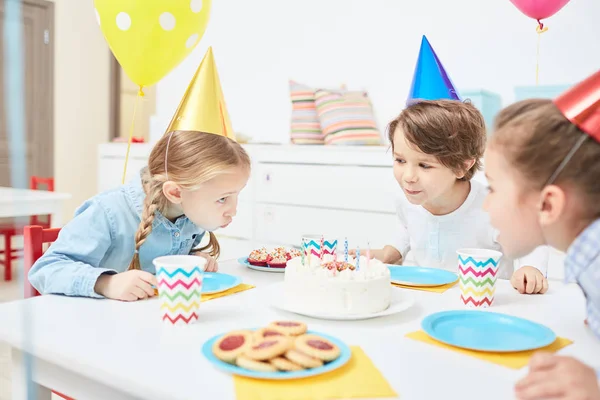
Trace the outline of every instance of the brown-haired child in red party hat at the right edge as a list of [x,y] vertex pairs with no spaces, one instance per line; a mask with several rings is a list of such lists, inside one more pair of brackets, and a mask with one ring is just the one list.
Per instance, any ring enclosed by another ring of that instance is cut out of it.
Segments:
[[[485,170],[484,207],[504,251],[518,257],[549,244],[566,252],[565,277],[582,289],[586,322],[600,339],[600,71],[554,102],[525,100],[501,111]],[[538,353],[516,395],[600,399],[597,371]]]

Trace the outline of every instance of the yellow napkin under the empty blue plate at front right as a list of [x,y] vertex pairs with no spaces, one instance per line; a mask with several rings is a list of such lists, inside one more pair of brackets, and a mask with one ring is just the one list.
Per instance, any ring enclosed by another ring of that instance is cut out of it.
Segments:
[[454,346],[447,345],[445,343],[438,342],[437,340],[430,338],[423,331],[411,332],[411,333],[407,334],[406,337],[410,338],[410,339],[418,340],[420,342],[429,343],[434,346],[439,346],[444,349],[454,350],[456,352],[463,353],[463,354],[466,354],[471,357],[479,358],[480,360],[489,361],[491,363],[502,365],[504,367],[508,367],[508,368],[512,368],[512,369],[520,369],[520,368],[523,368],[524,366],[526,366],[527,364],[529,364],[529,359],[531,358],[531,356],[533,356],[533,353],[535,353],[535,352],[547,351],[547,352],[555,353],[558,350],[562,349],[563,347],[567,347],[568,345],[573,343],[573,341],[571,341],[569,339],[559,337],[559,338],[556,338],[554,343],[552,343],[551,345],[546,346],[541,349],[538,349],[538,350],[519,351],[519,352],[515,352],[515,353],[488,353],[488,352],[483,352],[483,351],[461,349],[459,347],[454,347]]

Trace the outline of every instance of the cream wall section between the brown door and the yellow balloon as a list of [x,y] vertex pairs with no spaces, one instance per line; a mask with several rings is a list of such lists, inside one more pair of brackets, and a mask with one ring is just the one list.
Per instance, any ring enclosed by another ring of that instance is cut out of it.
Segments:
[[110,51],[91,0],[54,3],[54,178],[56,191],[72,194],[66,222],[96,194],[98,145],[109,136]]

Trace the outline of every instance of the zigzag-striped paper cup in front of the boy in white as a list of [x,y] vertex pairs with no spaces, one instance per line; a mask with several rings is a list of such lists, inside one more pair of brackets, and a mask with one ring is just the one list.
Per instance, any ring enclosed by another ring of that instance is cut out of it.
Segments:
[[460,300],[467,307],[490,307],[502,253],[486,249],[460,249],[457,253]]

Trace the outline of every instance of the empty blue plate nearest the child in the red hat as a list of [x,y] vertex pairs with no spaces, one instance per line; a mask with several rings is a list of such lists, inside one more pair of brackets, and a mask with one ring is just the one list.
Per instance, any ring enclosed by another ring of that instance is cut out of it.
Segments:
[[534,350],[556,340],[544,325],[487,311],[443,311],[425,317],[421,327],[439,342],[477,351]]

